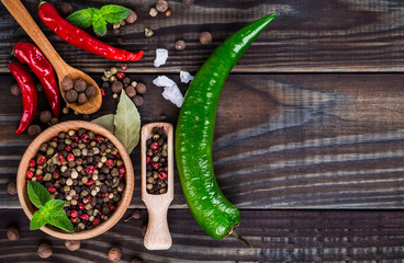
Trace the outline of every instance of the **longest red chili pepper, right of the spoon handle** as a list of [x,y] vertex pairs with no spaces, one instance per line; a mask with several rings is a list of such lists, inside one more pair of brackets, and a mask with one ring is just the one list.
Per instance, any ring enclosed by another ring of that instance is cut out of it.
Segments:
[[40,5],[38,14],[45,25],[55,32],[56,35],[78,48],[109,59],[122,61],[136,61],[143,57],[143,52],[133,54],[124,49],[106,45],[105,43],[90,36],[87,32],[63,19],[58,14],[56,8],[50,3],[42,3]]

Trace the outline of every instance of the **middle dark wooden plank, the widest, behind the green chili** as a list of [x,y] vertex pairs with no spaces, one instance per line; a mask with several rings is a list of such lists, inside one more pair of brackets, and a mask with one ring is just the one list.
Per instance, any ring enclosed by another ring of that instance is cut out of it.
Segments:
[[[100,76],[94,76],[99,78]],[[160,114],[176,124],[178,108],[152,84],[157,75],[133,75],[148,85],[143,124]],[[179,76],[170,75],[179,82]],[[30,138],[15,136],[21,98],[11,77],[0,82],[0,207],[19,207],[5,185]],[[221,188],[240,208],[402,208],[404,105],[402,75],[232,75],[215,127],[213,160]],[[187,85],[180,84],[184,92]],[[106,91],[101,112],[114,112]],[[43,96],[44,94],[40,94]],[[44,98],[40,108],[46,108]],[[11,103],[12,102],[12,103]],[[79,119],[70,113],[61,117]],[[36,121],[37,122],[37,121]],[[132,153],[141,201],[139,149]],[[186,203],[176,172],[173,208]]]

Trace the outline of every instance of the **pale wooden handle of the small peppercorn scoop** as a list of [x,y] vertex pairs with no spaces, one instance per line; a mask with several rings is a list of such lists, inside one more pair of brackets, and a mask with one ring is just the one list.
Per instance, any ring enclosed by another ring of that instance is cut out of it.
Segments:
[[147,202],[148,225],[144,244],[148,250],[167,250],[172,244],[170,230],[168,229],[167,211],[169,204]]

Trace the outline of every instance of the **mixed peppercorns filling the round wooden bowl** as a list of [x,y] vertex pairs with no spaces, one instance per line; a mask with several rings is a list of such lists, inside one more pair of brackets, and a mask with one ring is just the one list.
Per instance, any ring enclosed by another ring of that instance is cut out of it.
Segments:
[[40,182],[53,198],[66,201],[65,213],[76,231],[105,221],[125,188],[125,167],[117,149],[91,130],[60,132],[41,145],[26,178]]

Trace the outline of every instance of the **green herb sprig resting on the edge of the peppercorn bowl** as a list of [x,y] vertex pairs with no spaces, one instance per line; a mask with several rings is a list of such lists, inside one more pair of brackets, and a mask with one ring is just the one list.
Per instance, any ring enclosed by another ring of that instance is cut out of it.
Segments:
[[71,221],[63,210],[65,201],[52,199],[45,186],[34,181],[29,181],[27,193],[32,204],[40,208],[31,219],[31,230],[40,229],[49,224],[70,233],[75,232]]

